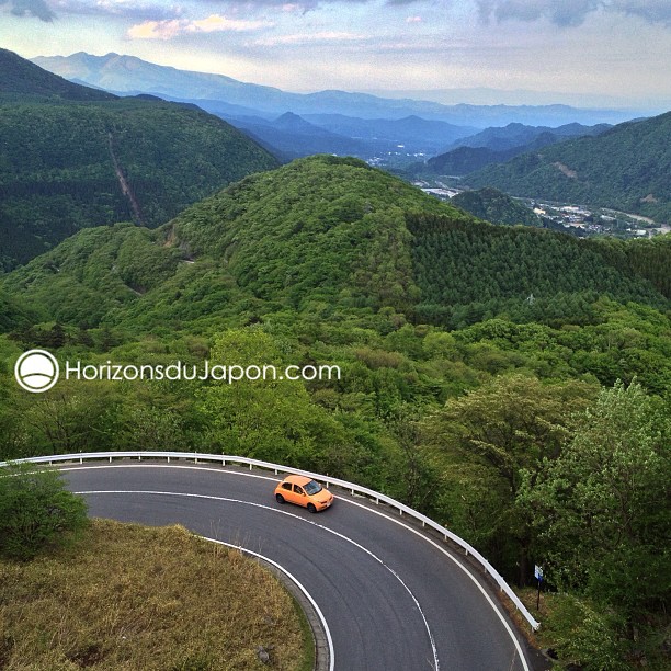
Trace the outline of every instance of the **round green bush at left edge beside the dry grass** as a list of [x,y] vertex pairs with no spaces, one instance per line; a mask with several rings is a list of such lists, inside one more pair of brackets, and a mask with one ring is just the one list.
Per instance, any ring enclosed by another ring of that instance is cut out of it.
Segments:
[[0,555],[29,560],[66,544],[87,524],[87,504],[60,474],[32,464],[0,468]]

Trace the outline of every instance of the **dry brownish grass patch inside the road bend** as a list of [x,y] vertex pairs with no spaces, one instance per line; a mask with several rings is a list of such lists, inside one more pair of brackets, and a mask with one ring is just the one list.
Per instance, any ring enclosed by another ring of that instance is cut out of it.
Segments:
[[0,561],[0,669],[296,670],[311,647],[271,573],[180,526],[95,520],[77,548]]

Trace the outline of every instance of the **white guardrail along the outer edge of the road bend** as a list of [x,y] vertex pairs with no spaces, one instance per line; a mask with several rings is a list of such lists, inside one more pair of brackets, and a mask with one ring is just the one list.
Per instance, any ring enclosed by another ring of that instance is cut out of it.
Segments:
[[503,580],[501,575],[497,571],[497,569],[482,557],[482,555],[475,549],[469,543],[452,533],[450,530],[445,528],[437,522],[434,522],[427,515],[417,512],[412,508],[393,499],[391,497],[387,497],[383,493],[374,491],[373,489],[368,489],[367,487],[361,487],[360,485],[355,485],[354,482],[348,482],[346,480],[340,480],[339,478],[331,478],[329,476],[323,476],[317,473],[309,473],[307,470],[300,470],[299,468],[291,468],[289,466],[280,466],[278,464],[271,464],[269,462],[260,462],[259,459],[250,459],[249,457],[240,457],[240,456],[230,456],[224,454],[201,454],[196,452],[87,452],[79,454],[59,454],[52,456],[42,456],[42,457],[31,457],[27,459],[15,459],[13,462],[0,462],[0,467],[8,466],[10,464],[48,464],[53,465],[55,463],[61,462],[79,462],[83,464],[86,460],[91,459],[109,459],[112,463],[112,459],[120,458],[137,458],[137,459],[167,459],[170,463],[170,459],[189,459],[195,462],[214,462],[216,464],[221,464],[221,466],[226,466],[227,464],[244,464],[249,466],[249,469],[252,468],[264,468],[266,470],[273,470],[275,475],[280,473],[286,474],[295,474],[295,475],[306,475],[315,480],[319,480],[320,482],[326,484],[327,487],[336,486],[341,487],[342,489],[349,490],[352,494],[361,494],[373,499],[375,503],[386,503],[390,508],[395,508],[399,511],[399,513],[407,514],[411,518],[414,518],[419,522],[422,523],[422,527],[431,527],[437,533],[440,533],[445,541],[450,538],[453,543],[458,545],[462,549],[465,550],[466,555],[471,555],[485,569],[485,571],[491,577],[491,579],[499,585],[500,590],[505,593],[505,595],[515,604],[515,607],[523,617],[528,622],[533,629],[537,629],[541,626],[541,623],[534,618],[534,616],[528,612],[526,606],[520,601],[519,596],[513,592],[511,587]]

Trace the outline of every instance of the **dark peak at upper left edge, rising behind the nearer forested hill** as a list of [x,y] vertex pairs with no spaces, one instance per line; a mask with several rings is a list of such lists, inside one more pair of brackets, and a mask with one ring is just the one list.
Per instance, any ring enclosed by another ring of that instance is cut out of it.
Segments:
[[56,96],[72,101],[115,100],[116,95],[90,87],[82,87],[52,75],[21,58],[13,52],[0,49],[0,94]]

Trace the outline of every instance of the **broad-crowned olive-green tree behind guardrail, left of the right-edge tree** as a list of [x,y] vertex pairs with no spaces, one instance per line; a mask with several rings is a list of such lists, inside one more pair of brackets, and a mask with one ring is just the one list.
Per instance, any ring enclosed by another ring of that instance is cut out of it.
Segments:
[[[577,380],[545,385],[520,374],[494,377],[447,401],[428,421],[428,440],[441,463],[444,486],[454,490],[454,496],[444,494],[455,507],[445,511],[446,516],[456,522],[457,533],[463,524],[470,527],[471,537],[492,539],[482,549],[509,564],[509,569],[516,564],[521,584],[528,575],[531,544],[526,511],[515,505],[522,470],[534,471],[541,459],[559,454],[570,435],[571,414],[584,409],[594,393]],[[462,490],[465,475],[469,484]],[[499,507],[496,514],[473,516],[473,497],[484,492],[470,476],[476,482],[490,482],[482,509],[492,513],[493,500]],[[514,549],[516,557],[501,557],[501,546],[508,546],[509,553]]]

